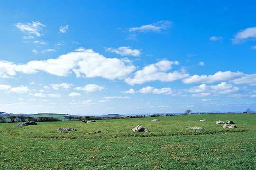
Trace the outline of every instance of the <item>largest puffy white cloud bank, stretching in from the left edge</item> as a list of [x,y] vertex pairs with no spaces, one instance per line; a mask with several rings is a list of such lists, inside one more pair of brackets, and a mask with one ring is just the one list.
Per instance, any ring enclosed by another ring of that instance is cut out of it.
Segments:
[[[106,58],[92,50],[70,52],[57,59],[33,60],[27,64],[16,65],[8,61],[0,61],[0,77],[15,76],[16,72],[27,74],[45,71],[56,76],[69,76],[72,71],[77,77],[104,77],[107,79],[123,79],[135,70],[128,60]],[[83,75],[82,75],[83,76]]]

